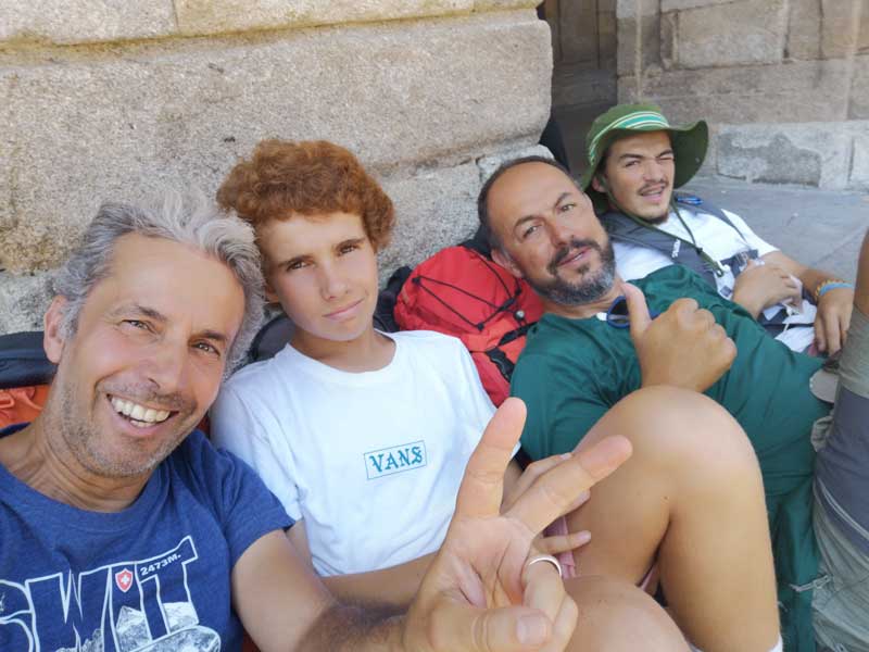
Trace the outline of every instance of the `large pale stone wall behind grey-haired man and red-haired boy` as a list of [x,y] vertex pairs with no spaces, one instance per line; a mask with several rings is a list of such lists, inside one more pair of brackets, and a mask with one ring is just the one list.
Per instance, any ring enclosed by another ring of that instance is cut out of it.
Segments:
[[533,147],[552,54],[534,0],[30,0],[0,22],[0,333],[104,200],[213,193],[266,137],[349,147],[399,224],[381,272],[475,227],[481,175]]

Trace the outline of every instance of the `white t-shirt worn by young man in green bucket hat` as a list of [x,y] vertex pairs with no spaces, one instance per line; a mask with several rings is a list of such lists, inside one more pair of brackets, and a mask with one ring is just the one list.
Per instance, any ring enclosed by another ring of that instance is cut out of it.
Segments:
[[[723,220],[716,217],[704,212],[695,212],[684,206],[679,206],[679,214],[684,220],[691,233],[689,233],[679,217],[673,212],[670,212],[669,217],[662,224],[655,226],[663,231],[672,236],[677,236],[691,242],[692,235],[698,247],[709,254],[716,261],[726,261],[733,255],[748,251],[751,249],[757,250],[757,255],[763,256],[771,251],[778,249],[760,238],[755,234],[752,228],[745,224],[745,221],[730,211],[725,211],[727,216],[733,223],[736,229],[732,228]],[[682,243],[682,247],[687,244]],[[643,278],[652,272],[672,265],[673,260],[666,253],[653,249],[651,247],[640,247],[639,244],[631,244],[630,242],[613,241],[613,250],[616,254],[616,269],[625,280],[632,280],[634,278]],[[716,276],[716,284],[718,286],[718,293],[726,299],[733,298],[733,272],[729,265],[722,265],[723,275]],[[768,317],[772,317],[783,306],[770,306],[765,311]],[[806,312],[802,317],[794,317],[799,323],[805,323],[814,316],[814,308],[804,302],[804,310],[811,311],[811,314]],[[783,341],[795,351],[803,351],[811,343],[815,336],[815,329],[810,327],[790,327],[784,333],[777,336],[776,339]]]

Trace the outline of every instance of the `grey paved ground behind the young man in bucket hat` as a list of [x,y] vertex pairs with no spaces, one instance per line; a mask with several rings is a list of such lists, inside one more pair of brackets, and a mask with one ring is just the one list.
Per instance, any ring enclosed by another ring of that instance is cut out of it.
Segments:
[[869,193],[729,179],[695,179],[684,190],[738,213],[794,260],[854,280]]

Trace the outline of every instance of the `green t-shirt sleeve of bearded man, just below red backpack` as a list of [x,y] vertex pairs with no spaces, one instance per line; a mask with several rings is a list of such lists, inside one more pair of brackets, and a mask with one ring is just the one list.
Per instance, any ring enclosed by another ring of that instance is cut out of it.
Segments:
[[558,366],[542,355],[526,355],[513,374],[511,393],[528,410],[521,443],[532,460],[572,451],[610,408],[593,378]]

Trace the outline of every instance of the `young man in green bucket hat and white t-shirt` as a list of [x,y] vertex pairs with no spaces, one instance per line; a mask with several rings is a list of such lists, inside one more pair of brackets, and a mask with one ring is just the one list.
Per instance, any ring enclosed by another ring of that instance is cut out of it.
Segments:
[[[631,280],[687,265],[792,349],[835,353],[851,319],[851,284],[786,256],[739,215],[673,192],[700,170],[707,145],[704,121],[670,125],[654,104],[619,104],[594,121],[580,183],[610,234],[619,274]],[[813,321],[814,331],[785,328]]]

